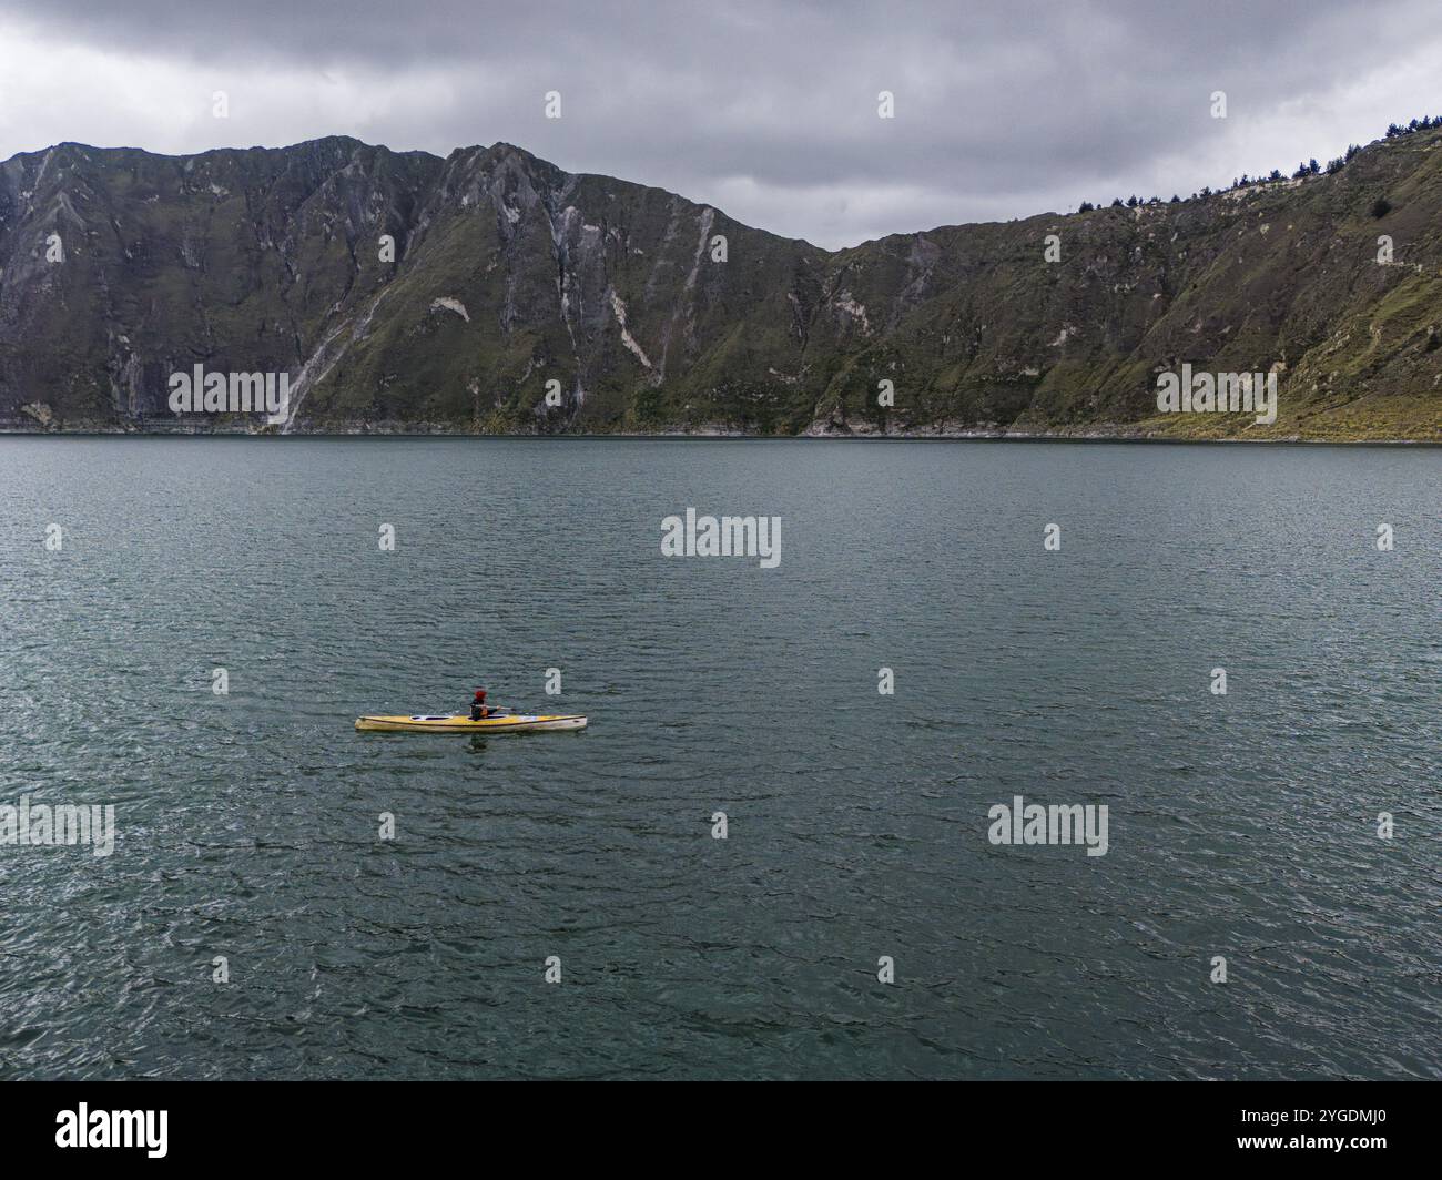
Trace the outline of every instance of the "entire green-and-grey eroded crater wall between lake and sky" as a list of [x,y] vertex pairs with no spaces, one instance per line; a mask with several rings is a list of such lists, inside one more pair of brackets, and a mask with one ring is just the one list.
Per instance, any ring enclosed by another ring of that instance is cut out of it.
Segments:
[[[0,164],[0,427],[176,428],[203,364],[290,374],[290,430],[1436,439],[1439,149],[831,252],[509,144],[61,144]],[[1155,418],[1182,362],[1278,423]]]

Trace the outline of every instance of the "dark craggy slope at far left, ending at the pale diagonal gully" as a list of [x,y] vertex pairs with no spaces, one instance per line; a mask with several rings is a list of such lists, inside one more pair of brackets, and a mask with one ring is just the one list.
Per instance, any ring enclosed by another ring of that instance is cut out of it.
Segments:
[[0,415],[169,420],[176,369],[294,369],[385,278],[358,235],[404,234],[435,170],[350,140],[183,159],[61,144],[0,164]]

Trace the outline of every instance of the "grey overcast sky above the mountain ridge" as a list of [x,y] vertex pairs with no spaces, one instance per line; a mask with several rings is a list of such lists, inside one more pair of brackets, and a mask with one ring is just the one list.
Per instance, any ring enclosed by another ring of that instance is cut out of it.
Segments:
[[506,140],[825,247],[1187,196],[1442,115],[1438,0],[97,7],[0,0],[0,159]]

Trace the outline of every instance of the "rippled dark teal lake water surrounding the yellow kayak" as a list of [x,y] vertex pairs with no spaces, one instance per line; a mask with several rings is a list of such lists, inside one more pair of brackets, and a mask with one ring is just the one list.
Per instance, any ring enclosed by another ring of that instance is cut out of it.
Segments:
[[[0,439],[0,803],[115,806],[0,844],[0,1076],[1442,1076],[1439,505],[1436,450]],[[780,564],[663,557],[688,506]],[[479,684],[591,724],[352,727]]]

